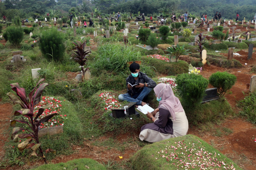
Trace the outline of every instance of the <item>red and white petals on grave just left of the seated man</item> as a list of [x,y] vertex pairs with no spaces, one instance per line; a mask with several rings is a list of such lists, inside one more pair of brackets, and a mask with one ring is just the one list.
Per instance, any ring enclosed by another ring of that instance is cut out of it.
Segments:
[[122,107],[120,102],[118,102],[115,96],[112,95],[110,92],[104,91],[99,95],[99,97],[101,98],[102,103],[104,103],[104,110]]

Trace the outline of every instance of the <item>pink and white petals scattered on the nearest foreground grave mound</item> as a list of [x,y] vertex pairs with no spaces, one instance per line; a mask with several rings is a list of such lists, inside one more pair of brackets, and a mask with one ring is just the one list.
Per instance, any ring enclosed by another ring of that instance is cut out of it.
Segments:
[[155,159],[165,159],[177,169],[234,169],[220,154],[205,149],[200,141],[178,141],[174,146],[166,144],[165,148],[155,151]]

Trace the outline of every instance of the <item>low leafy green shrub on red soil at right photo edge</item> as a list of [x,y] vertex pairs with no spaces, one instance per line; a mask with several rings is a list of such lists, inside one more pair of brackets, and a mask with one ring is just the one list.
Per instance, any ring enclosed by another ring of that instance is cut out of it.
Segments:
[[247,117],[250,122],[256,124],[256,92],[239,100],[237,106],[242,108],[242,111],[239,112],[241,116]]

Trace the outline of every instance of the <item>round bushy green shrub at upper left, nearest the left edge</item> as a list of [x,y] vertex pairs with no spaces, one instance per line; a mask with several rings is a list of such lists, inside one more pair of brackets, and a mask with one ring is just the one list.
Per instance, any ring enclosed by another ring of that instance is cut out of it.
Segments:
[[24,33],[21,27],[7,27],[6,32],[8,35],[8,41],[13,45],[18,45],[23,40]]

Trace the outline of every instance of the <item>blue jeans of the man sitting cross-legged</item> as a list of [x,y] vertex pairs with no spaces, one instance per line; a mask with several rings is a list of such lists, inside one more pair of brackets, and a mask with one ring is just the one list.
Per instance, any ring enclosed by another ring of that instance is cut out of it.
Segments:
[[146,97],[151,90],[152,88],[144,87],[140,93],[136,93],[133,96],[131,96],[129,93],[120,94],[118,99],[126,100],[128,102],[136,102],[137,105],[141,105],[143,98]]

